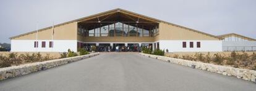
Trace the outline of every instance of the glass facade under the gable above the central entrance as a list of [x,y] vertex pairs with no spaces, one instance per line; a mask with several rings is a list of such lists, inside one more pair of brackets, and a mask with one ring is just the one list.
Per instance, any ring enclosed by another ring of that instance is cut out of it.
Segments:
[[[91,25],[92,27],[92,25]],[[97,23],[92,27],[93,29],[87,30],[86,26],[79,26],[77,34],[85,37],[113,37],[113,36],[131,36],[131,37],[153,37],[158,35],[158,26],[152,26],[146,30],[143,25],[137,23]]]

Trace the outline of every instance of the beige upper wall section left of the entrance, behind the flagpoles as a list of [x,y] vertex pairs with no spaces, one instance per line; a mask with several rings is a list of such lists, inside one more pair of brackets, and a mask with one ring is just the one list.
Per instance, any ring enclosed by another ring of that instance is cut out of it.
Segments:
[[[38,40],[51,40],[53,28],[38,31]],[[35,40],[36,32],[14,38],[14,40]],[[54,40],[76,40],[77,22],[54,27]]]

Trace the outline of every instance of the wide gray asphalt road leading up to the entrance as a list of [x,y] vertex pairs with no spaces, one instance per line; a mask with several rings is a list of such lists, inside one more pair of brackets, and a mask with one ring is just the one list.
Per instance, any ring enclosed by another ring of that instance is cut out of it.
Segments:
[[142,57],[138,53],[101,53],[96,57],[0,81],[0,90],[255,91],[256,84]]

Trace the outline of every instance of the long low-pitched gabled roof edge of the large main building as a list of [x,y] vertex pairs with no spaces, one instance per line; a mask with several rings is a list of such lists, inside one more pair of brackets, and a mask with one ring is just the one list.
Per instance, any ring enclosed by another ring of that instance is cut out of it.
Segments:
[[[147,16],[145,16],[145,15],[140,15],[140,14],[137,14],[137,13],[135,13],[135,12],[130,12],[130,11],[128,11],[128,10],[119,9],[119,8],[113,9],[113,10],[108,10],[108,11],[106,11],[106,12],[101,12],[101,13],[95,14],[95,15],[90,15],[90,16],[88,16],[88,17],[83,17],[83,18],[78,18],[78,19],[76,19],[76,20],[71,20],[71,21],[69,21],[69,22],[65,22],[65,23],[61,23],[61,24],[58,24],[58,25],[54,25],[54,27],[56,27],[56,26],[61,26],[61,25],[66,25],[66,24],[68,24],[68,23],[73,23],[73,22],[82,22],[83,20],[86,20],[86,19],[88,19],[88,18],[95,18],[95,17],[99,17],[99,16],[101,16],[101,15],[113,14],[113,13],[115,13],[115,12],[122,12],[122,13],[125,13],[125,14],[135,15],[135,16],[137,16],[137,17],[139,17],[139,18],[144,18],[144,19],[147,19],[147,20],[151,20],[151,21],[153,21],[153,22],[163,22],[163,23],[167,23],[167,24],[169,24],[169,25],[177,26],[177,27],[179,27],[179,28],[184,28],[184,29],[186,29],[186,30],[194,31],[194,32],[197,32],[197,33],[205,34],[205,35],[207,35],[207,36],[211,36],[211,37],[213,37],[213,38],[218,38],[218,39],[220,39],[218,36],[215,36],[215,35],[212,35],[212,34],[204,33],[204,32],[202,32],[202,31],[193,30],[193,29],[187,28],[187,27],[185,27],[185,26],[176,25],[176,24],[173,24],[173,23],[165,22],[165,21],[163,21],[163,20],[158,20],[158,19],[156,19],[156,18],[147,17]],[[46,27],[46,28],[42,28],[42,29],[40,29],[40,30],[38,30],[38,31],[47,30],[47,29],[49,29],[49,28],[52,28],[52,26],[49,26],[49,27]],[[27,34],[32,34],[32,33],[36,33],[36,31],[31,31],[31,32],[28,32],[28,33],[25,33],[25,34],[20,34],[20,35],[18,35],[18,36],[13,36],[13,37],[11,37],[11,38],[9,38],[9,39],[19,38],[20,36],[25,36],[25,35],[27,35]]]

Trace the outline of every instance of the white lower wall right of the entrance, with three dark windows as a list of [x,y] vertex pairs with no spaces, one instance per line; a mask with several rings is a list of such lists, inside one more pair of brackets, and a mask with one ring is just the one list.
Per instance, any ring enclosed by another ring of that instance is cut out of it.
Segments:
[[[160,40],[160,49],[168,49],[169,52],[221,52],[222,41],[205,41],[205,40]],[[187,47],[183,48],[182,42],[186,42]],[[194,42],[194,47],[190,48],[189,42]],[[197,42],[201,47],[197,48]]]

